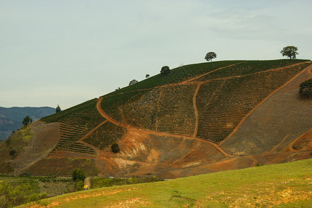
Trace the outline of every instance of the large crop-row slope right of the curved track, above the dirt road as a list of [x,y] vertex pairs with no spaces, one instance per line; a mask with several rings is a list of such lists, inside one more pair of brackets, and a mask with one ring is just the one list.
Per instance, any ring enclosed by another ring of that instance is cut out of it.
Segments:
[[160,86],[137,91],[129,87],[128,91],[103,96],[102,108],[123,125],[220,143],[248,112],[311,63],[272,60],[218,64],[198,64],[202,68],[197,71],[191,71],[194,65],[185,66],[180,79],[173,70]]

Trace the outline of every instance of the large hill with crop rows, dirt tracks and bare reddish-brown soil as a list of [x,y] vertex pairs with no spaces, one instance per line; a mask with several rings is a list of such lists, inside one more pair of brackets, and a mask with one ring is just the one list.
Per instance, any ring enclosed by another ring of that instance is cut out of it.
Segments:
[[15,174],[80,167],[87,175],[176,178],[310,158],[311,100],[297,92],[311,76],[310,60],[178,67],[31,124],[32,139],[17,142],[20,133],[0,144],[0,163]]

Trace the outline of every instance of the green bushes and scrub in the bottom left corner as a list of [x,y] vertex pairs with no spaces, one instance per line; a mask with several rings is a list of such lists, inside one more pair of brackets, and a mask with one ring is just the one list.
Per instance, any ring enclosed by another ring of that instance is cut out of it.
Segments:
[[26,202],[39,202],[42,198],[72,191],[73,182],[68,178],[0,175],[0,207],[15,207]]

